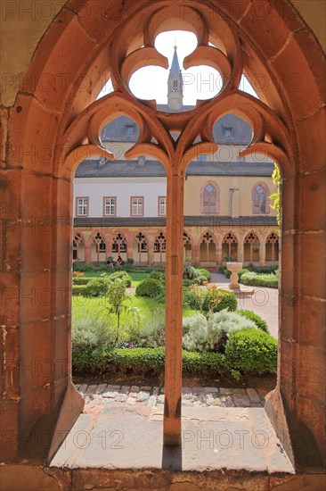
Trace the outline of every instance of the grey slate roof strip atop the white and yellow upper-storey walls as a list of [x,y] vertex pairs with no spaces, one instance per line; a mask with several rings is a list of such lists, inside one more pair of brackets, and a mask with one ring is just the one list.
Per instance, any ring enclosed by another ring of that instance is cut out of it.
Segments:
[[[191,162],[186,176],[247,176],[271,177],[272,162]],[[76,178],[165,178],[164,166],[158,161],[108,161],[99,166],[98,161],[84,161],[77,167]]]

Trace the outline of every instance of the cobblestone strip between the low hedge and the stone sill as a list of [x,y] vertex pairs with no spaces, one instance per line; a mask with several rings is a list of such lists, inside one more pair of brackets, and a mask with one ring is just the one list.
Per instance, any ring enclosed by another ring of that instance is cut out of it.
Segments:
[[[164,388],[100,384],[77,385],[86,404],[105,406],[150,406],[163,409]],[[259,392],[259,394],[258,394]],[[254,388],[183,387],[183,406],[263,407],[265,394]]]

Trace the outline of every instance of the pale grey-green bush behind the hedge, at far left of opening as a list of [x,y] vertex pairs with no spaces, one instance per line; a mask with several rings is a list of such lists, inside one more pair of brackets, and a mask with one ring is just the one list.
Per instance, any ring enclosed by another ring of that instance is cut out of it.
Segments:
[[87,316],[72,320],[71,342],[74,347],[113,345],[114,332],[107,321]]

